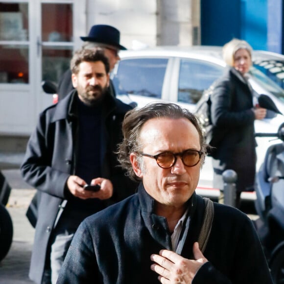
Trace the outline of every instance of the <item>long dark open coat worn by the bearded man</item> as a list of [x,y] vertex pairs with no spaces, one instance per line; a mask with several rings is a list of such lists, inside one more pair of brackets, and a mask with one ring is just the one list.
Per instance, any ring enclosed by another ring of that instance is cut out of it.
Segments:
[[[74,91],[58,104],[52,105],[40,114],[36,130],[27,145],[23,165],[24,180],[38,189],[40,203],[36,224],[30,278],[41,283],[47,243],[50,233],[60,217],[62,202],[68,199],[65,186],[76,165],[75,142],[77,116]],[[122,141],[121,123],[131,107],[120,100],[106,95],[102,104],[103,119],[101,138],[102,177],[112,181],[114,195],[111,201],[101,201],[106,207],[134,193],[135,188],[121,167],[118,166],[118,142]],[[98,130],[100,131],[100,130]],[[68,202],[68,201],[67,201]]]

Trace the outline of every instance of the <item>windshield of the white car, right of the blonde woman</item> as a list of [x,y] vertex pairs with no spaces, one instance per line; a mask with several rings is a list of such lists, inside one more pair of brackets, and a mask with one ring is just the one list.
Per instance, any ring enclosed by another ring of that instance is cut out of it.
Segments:
[[259,71],[255,67],[252,67],[249,73],[251,74],[251,76],[254,77],[254,79],[259,83],[259,85],[263,89],[275,95],[281,101],[284,101],[284,90],[273,80],[271,80],[268,76],[266,76],[263,72]]

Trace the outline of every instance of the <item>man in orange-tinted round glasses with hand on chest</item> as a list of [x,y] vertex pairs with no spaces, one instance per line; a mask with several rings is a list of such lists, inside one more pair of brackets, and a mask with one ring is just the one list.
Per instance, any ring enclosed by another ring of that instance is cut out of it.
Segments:
[[86,218],[64,261],[63,283],[272,284],[251,220],[214,203],[204,253],[205,201],[196,195],[206,145],[198,120],[175,104],[129,111],[119,161],[138,193]]

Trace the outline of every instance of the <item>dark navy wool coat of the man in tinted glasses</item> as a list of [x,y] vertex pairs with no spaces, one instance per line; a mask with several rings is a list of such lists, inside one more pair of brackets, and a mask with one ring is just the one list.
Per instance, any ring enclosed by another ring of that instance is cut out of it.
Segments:
[[[188,205],[189,230],[181,256],[193,260],[204,200],[194,193]],[[159,284],[150,256],[172,250],[172,245],[166,218],[154,209],[155,200],[140,186],[138,194],[86,218],[75,233],[57,284]],[[214,203],[204,256],[209,262],[192,284],[272,284],[254,225],[236,208]]]

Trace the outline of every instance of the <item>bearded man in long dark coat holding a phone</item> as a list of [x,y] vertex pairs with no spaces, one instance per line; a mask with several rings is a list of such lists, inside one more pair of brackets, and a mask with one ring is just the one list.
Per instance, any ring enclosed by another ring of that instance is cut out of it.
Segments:
[[21,166],[24,180],[40,194],[29,271],[38,284],[56,283],[84,218],[133,194],[137,186],[118,166],[121,124],[131,107],[108,92],[104,51],[76,51],[71,71],[75,89],[40,114]]

